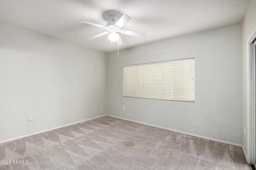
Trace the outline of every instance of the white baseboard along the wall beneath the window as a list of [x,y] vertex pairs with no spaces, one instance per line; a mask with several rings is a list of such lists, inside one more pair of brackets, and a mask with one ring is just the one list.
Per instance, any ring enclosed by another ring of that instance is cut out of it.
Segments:
[[175,129],[169,129],[169,128],[166,128],[166,127],[161,127],[161,126],[157,126],[157,125],[151,125],[151,124],[148,124],[148,123],[143,123],[143,122],[140,122],[140,121],[134,121],[134,120],[130,120],[130,119],[125,119],[125,118],[122,118],[122,117],[117,117],[117,116],[112,116],[112,115],[107,115],[107,116],[115,117],[115,118],[123,119],[123,120],[127,120],[127,121],[132,121],[132,122],[135,122],[135,123],[140,123],[140,124],[143,124],[143,125],[149,125],[149,126],[153,126],[153,127],[158,127],[158,128],[166,129],[166,130],[169,130],[169,131],[174,131],[174,132],[178,132],[178,133],[183,133],[183,134],[190,135],[190,136],[194,136],[194,137],[200,137],[200,138],[202,138],[202,139],[208,139],[208,140],[211,140],[211,141],[216,141],[216,142],[220,142],[220,143],[226,143],[226,144],[229,144],[229,145],[234,145],[234,146],[242,147],[242,145],[236,144],[236,143],[221,141],[221,140],[218,140],[218,139],[213,139],[213,138],[209,138],[209,137],[204,137],[204,136],[200,136],[200,135],[195,135],[195,134],[192,134],[192,133],[177,131],[177,130],[175,130]]

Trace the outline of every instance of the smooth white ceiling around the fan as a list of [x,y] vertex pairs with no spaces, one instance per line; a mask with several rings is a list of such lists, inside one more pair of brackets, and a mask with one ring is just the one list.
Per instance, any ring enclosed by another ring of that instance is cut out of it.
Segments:
[[[243,20],[249,0],[0,0],[0,20],[112,52],[116,43],[104,35],[88,37],[105,29],[79,22],[87,20],[106,25],[103,14],[114,10],[132,18],[122,29],[146,33],[146,37],[120,35],[126,49],[204,31]],[[106,18],[106,17],[105,17]]]

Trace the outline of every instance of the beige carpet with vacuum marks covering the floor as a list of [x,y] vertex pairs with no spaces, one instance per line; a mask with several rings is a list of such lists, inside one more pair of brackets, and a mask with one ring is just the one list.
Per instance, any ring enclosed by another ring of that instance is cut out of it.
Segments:
[[251,170],[241,147],[109,116],[2,143],[0,160],[4,170]]

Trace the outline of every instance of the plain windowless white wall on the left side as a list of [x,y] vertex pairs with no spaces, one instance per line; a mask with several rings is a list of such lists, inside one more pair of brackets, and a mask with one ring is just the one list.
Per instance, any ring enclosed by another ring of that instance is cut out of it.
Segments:
[[106,114],[106,71],[105,53],[0,21],[0,142]]

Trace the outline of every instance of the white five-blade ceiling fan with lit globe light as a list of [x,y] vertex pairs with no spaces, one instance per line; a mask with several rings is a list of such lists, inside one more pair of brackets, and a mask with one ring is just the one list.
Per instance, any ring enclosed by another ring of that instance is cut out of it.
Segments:
[[122,39],[120,38],[118,32],[120,32],[122,34],[126,34],[126,35],[136,36],[136,37],[145,37],[145,35],[146,35],[145,33],[139,33],[139,32],[135,32],[135,31],[128,31],[128,30],[121,29],[121,27],[124,26],[124,24],[126,24],[128,21],[130,21],[132,19],[129,16],[127,16],[126,14],[124,14],[119,20],[117,20],[118,17],[114,14],[111,14],[109,16],[109,18],[111,21],[106,23],[106,26],[100,25],[98,23],[86,21],[86,20],[80,20],[80,22],[82,22],[82,23],[87,23],[90,25],[94,25],[94,26],[102,27],[103,29],[106,29],[105,32],[94,35],[92,37],[89,37],[88,39],[94,39],[94,38],[97,38],[102,35],[106,35],[106,34],[110,33],[108,35],[108,39],[112,42],[116,42],[119,46],[119,45],[123,45],[123,42],[122,42]]

